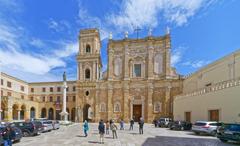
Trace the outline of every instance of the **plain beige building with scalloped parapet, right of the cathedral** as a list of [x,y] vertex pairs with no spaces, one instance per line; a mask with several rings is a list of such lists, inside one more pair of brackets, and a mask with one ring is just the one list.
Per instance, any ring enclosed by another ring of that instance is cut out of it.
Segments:
[[240,122],[240,50],[185,78],[174,119]]

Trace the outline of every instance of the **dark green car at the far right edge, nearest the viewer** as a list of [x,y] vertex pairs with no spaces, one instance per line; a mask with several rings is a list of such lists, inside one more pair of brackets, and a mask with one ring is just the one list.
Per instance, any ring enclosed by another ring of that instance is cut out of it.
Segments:
[[217,134],[217,138],[222,142],[229,140],[240,143],[240,124],[223,125]]

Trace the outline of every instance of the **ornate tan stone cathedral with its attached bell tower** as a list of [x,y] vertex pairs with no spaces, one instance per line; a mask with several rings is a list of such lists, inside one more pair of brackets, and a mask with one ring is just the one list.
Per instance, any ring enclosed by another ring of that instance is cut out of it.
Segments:
[[107,45],[108,66],[101,74],[101,41],[97,29],[79,35],[76,105],[78,121],[124,119],[151,122],[172,117],[173,97],[182,79],[170,64],[171,40],[164,36],[114,40]]

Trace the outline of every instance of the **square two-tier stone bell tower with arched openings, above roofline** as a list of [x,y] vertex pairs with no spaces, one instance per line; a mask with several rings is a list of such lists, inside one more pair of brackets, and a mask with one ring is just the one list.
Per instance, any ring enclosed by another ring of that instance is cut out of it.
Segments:
[[101,41],[98,29],[83,29],[79,33],[78,81],[94,82],[100,79]]

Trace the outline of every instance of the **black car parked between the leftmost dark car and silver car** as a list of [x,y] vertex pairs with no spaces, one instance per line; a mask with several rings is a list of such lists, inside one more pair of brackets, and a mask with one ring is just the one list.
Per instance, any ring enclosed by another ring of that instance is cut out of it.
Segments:
[[34,122],[13,122],[11,125],[14,125],[21,129],[24,137],[35,136],[39,134],[38,128],[36,126],[37,124]]

